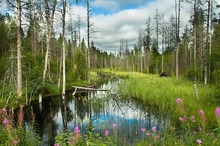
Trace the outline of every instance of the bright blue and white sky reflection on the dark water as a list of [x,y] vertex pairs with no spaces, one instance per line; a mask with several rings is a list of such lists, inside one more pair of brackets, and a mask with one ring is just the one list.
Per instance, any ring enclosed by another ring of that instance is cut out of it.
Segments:
[[[111,88],[111,82],[101,86],[101,89]],[[111,98],[105,91],[91,92],[89,97],[95,101],[98,99],[105,101],[98,110],[94,110],[92,107],[92,124],[95,128],[95,132],[101,135],[104,135],[105,130],[109,130],[111,135],[113,133],[112,124],[117,124],[117,132],[120,136],[126,137],[131,141],[143,137],[141,128],[151,129],[153,126],[156,126],[157,129],[162,129],[163,120],[160,119],[160,117],[151,115],[146,110],[143,111],[143,109],[140,109],[134,103],[114,100],[114,97]],[[86,113],[84,118],[81,119],[79,115],[77,115],[75,104],[75,100],[68,103],[68,107],[73,112],[74,118],[68,122],[67,127],[69,131],[73,131],[74,127],[78,125],[81,132],[84,133],[88,130],[90,121],[89,114]],[[59,110],[54,119],[61,130],[63,126],[61,110]]]

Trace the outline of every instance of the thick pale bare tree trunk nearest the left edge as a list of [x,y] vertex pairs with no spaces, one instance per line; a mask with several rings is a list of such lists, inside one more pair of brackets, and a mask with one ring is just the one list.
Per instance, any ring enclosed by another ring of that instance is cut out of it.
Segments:
[[22,96],[22,68],[21,68],[21,0],[17,0],[17,94]]

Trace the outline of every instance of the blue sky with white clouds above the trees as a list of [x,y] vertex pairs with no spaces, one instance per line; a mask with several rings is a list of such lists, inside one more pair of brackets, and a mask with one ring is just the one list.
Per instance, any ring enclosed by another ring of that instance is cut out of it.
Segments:
[[[220,4],[220,0],[216,0]],[[175,0],[91,0],[92,13],[91,22],[97,33],[92,34],[91,40],[96,42],[101,50],[117,52],[120,40],[128,42],[129,49],[137,43],[138,32],[146,28],[146,21],[152,18],[152,34],[155,33],[155,10],[159,15],[164,15],[164,20],[169,23],[169,18],[174,14]],[[5,11],[5,0],[0,4],[0,10]],[[188,25],[192,12],[192,5],[181,3],[180,29]],[[58,13],[58,12],[57,12]],[[191,14],[190,14],[191,13]],[[78,4],[71,6],[71,16],[76,23],[78,16],[81,18],[81,37],[86,40],[86,4],[85,0],[79,0]],[[70,22],[68,12],[66,21]],[[161,20],[162,21],[162,20]],[[57,35],[61,32],[59,21],[55,21],[54,27]],[[25,26],[25,25],[24,25]]]

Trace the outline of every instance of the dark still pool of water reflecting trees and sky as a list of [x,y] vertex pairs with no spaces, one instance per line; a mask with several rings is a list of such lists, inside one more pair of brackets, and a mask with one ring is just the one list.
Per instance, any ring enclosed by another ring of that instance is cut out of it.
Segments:
[[[43,146],[54,144],[54,137],[64,127],[73,132],[77,125],[81,133],[89,130],[92,121],[94,132],[104,136],[105,130],[113,134],[112,124],[117,125],[117,134],[121,138],[118,145],[133,145],[144,138],[141,128],[162,130],[169,121],[157,114],[156,108],[149,108],[135,101],[121,99],[118,96],[119,81],[108,81],[100,89],[111,89],[111,92],[91,91],[67,95],[65,100],[60,96],[45,97],[42,104],[33,102],[25,107],[25,113],[36,116],[37,132],[42,138]],[[31,119],[26,116],[26,123]]]

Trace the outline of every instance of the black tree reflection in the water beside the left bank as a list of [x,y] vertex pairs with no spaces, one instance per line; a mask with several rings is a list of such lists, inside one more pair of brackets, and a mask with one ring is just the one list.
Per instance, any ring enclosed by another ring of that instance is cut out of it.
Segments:
[[58,125],[54,121],[54,116],[59,111],[59,105],[57,101],[52,100],[53,98],[45,98],[42,105],[36,101],[31,106],[24,107],[25,121],[31,122],[32,118],[30,115],[35,115],[36,132],[44,141],[43,145],[51,145],[54,143],[53,139],[56,136],[56,130]]

